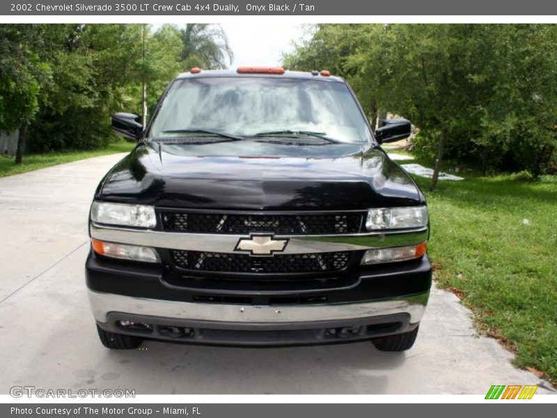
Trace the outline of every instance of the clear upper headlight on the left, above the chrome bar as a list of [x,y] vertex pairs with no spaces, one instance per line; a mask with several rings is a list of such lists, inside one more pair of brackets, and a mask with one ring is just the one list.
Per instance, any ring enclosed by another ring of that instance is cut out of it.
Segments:
[[91,220],[100,224],[141,226],[143,228],[153,228],[157,225],[153,206],[127,205],[125,203],[94,201],[91,205]]

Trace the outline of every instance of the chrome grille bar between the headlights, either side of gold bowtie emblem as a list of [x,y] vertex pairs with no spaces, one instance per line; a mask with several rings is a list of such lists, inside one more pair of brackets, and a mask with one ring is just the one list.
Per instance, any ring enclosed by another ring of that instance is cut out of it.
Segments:
[[[146,229],[118,228],[91,222],[91,238],[118,242],[120,244],[145,245],[147,247],[182,249],[186,251],[209,251],[238,253],[237,243],[247,235],[182,233],[151,231]],[[276,239],[290,238],[284,251],[277,254],[308,254],[331,251],[355,251],[385,247],[418,245],[427,241],[427,228],[358,233],[352,235],[274,235]],[[247,253],[246,253],[247,254]]]

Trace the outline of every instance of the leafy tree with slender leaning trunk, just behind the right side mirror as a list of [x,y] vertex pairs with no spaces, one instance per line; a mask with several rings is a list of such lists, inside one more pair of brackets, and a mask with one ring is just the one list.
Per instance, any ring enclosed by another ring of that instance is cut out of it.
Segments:
[[[366,102],[368,107],[372,104],[374,113],[380,104],[407,116],[421,129],[439,132],[431,189],[437,185],[446,138],[464,104],[462,29],[455,25],[372,25],[362,30],[336,25],[331,30],[325,26],[302,49],[307,51],[317,43],[321,49],[336,51],[339,72],[354,79],[358,93],[365,86],[372,92],[373,99]],[[327,47],[327,42],[335,46]]]

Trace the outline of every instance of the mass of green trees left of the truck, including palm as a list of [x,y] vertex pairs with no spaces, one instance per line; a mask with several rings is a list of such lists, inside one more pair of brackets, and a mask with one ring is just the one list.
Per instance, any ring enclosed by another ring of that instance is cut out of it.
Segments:
[[0,130],[30,124],[29,150],[89,150],[111,140],[111,115],[149,114],[168,82],[232,58],[219,25],[0,25]]

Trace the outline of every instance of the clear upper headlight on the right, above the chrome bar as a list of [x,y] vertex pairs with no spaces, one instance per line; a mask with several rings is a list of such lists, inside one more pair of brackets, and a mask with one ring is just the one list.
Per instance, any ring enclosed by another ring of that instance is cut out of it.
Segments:
[[408,208],[373,208],[368,210],[366,228],[405,229],[427,226],[427,207],[409,206]]

